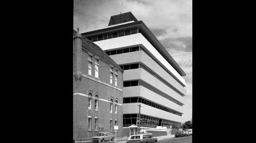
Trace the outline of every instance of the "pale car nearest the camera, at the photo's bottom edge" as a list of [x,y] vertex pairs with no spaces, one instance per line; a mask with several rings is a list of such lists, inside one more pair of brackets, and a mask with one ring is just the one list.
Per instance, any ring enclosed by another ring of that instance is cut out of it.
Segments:
[[139,143],[139,142],[148,142],[148,143],[155,143],[157,142],[157,138],[152,138],[151,134],[136,134],[136,135],[131,135],[128,140],[126,141],[127,143]]

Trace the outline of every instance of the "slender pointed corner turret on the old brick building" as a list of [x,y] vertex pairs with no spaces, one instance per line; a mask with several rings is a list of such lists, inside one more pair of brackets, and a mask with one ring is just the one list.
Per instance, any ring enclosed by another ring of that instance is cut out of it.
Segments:
[[81,79],[81,67],[82,67],[82,36],[79,33],[79,28],[74,36],[75,44],[75,78]]

